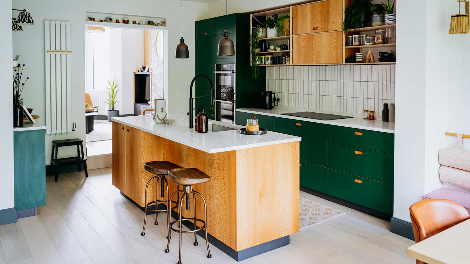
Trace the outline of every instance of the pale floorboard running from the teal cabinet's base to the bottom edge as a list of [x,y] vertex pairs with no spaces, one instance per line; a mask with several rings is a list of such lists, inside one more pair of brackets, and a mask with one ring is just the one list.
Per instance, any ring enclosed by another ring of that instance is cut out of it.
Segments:
[[37,264],[63,263],[59,252],[55,248],[47,230],[38,216],[18,219],[24,237],[28,243],[34,262]]

